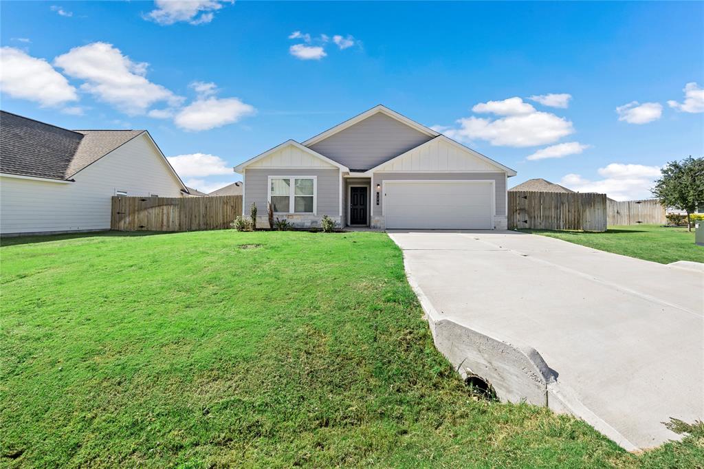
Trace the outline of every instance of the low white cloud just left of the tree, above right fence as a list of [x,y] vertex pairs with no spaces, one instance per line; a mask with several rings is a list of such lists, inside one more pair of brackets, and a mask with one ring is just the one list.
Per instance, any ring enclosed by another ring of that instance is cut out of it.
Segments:
[[588,180],[578,174],[567,174],[560,184],[577,192],[598,192],[615,200],[649,199],[650,188],[660,176],[658,166],[611,163],[597,170],[602,180]]

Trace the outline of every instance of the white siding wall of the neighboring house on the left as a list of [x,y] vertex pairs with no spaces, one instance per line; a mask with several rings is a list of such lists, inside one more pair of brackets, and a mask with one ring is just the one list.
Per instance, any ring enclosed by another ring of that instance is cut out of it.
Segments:
[[75,182],[0,178],[0,232],[109,230],[111,197],[178,197],[181,183],[142,134],[73,176]]

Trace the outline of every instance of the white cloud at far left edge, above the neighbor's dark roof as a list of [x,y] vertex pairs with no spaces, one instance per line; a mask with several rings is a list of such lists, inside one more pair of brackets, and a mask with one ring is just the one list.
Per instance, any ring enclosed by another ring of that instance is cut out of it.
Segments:
[[14,98],[58,106],[77,101],[76,89],[43,58],[13,47],[0,49],[0,87]]

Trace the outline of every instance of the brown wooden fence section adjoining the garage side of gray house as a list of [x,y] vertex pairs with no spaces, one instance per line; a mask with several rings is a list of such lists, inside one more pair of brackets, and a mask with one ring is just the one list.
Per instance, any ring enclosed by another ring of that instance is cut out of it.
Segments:
[[606,194],[508,192],[508,227],[606,231]]

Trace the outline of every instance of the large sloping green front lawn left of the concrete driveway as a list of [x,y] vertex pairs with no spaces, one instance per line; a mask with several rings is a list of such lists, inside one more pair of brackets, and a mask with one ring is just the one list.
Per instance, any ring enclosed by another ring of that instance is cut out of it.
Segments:
[[3,244],[5,467],[704,464],[701,427],[634,455],[574,418],[475,397],[381,233]]

